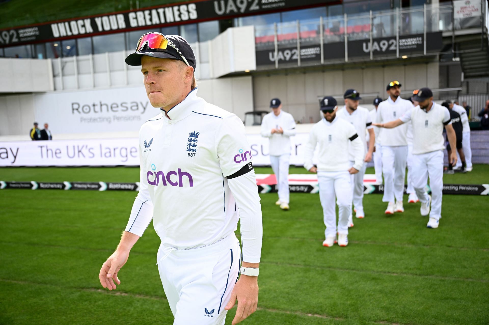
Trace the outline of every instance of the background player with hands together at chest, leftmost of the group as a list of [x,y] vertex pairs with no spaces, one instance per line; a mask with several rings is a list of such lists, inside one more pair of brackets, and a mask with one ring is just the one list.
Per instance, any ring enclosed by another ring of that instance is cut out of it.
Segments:
[[295,135],[292,114],[282,110],[280,99],[270,101],[272,112],[263,117],[261,134],[270,139],[270,163],[277,179],[278,201],[282,210],[289,210],[290,137]]

